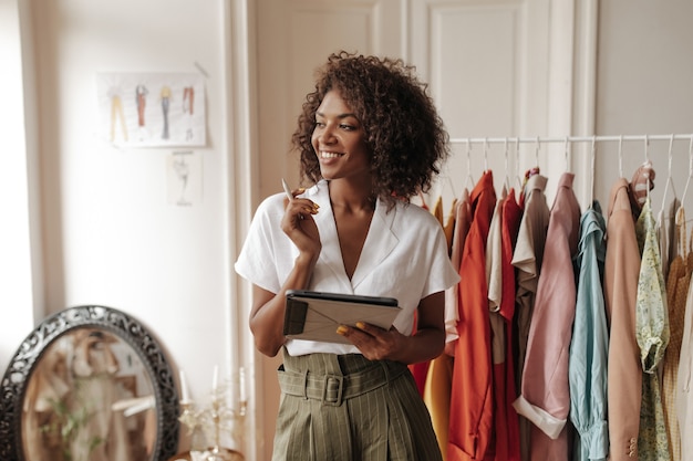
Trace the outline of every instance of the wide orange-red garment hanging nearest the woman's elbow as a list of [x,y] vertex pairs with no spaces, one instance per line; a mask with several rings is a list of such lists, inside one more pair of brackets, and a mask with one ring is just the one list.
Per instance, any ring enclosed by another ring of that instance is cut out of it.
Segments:
[[490,170],[484,172],[469,199],[473,220],[459,268],[459,322],[451,396],[448,461],[483,459],[493,431],[485,263],[486,240],[496,205]]

